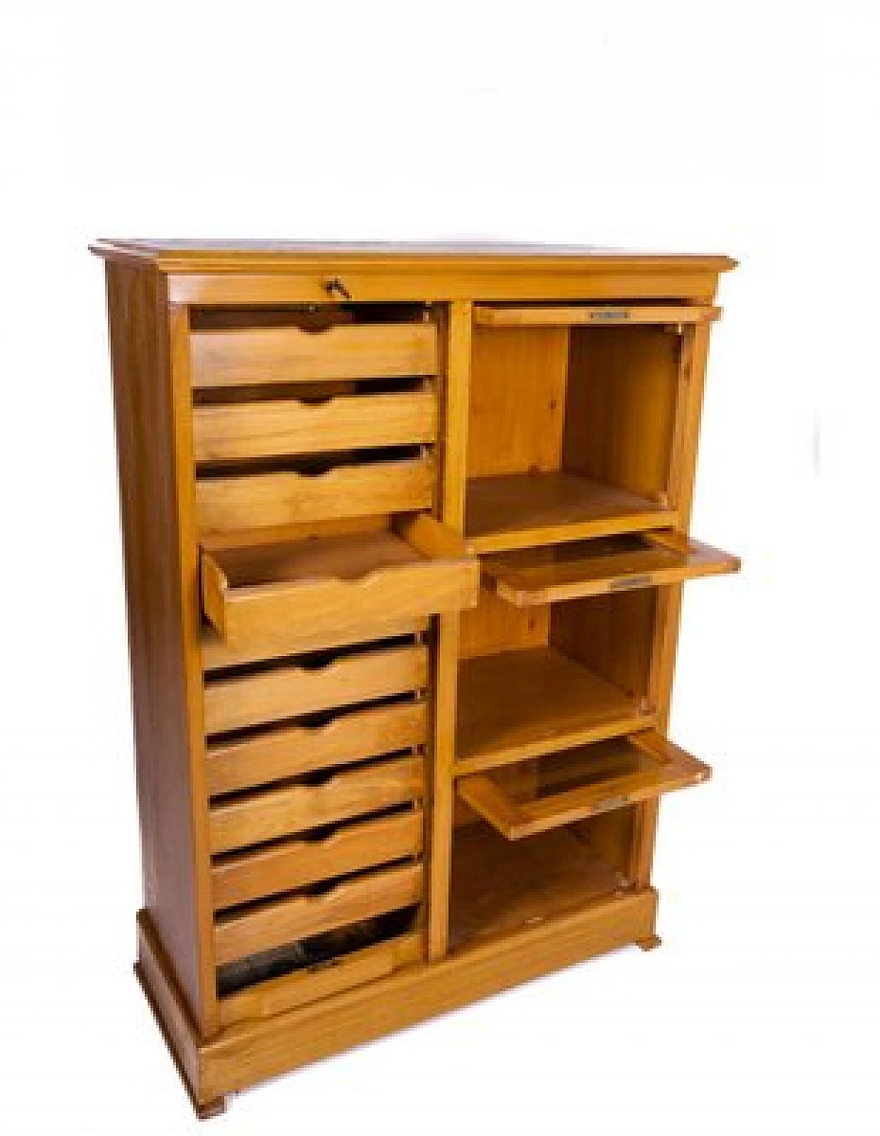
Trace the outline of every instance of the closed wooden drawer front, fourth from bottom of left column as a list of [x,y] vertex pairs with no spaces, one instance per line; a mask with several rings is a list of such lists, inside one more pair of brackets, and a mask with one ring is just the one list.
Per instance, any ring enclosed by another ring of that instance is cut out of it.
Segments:
[[319,785],[292,785],[211,805],[211,852],[228,852],[378,812],[420,797],[421,755],[391,758],[332,774]]

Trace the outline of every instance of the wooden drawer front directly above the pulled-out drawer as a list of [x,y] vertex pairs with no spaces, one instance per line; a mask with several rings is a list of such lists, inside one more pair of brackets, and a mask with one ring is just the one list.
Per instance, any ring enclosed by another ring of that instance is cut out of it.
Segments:
[[282,527],[430,509],[434,462],[427,454],[337,465],[324,473],[199,477],[195,511],[203,533]]

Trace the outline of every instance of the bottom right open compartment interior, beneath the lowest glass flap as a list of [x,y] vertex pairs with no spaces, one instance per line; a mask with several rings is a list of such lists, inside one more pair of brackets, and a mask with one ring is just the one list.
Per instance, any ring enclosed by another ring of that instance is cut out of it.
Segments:
[[453,837],[450,946],[506,935],[627,887],[615,868],[565,829],[514,843],[470,825]]

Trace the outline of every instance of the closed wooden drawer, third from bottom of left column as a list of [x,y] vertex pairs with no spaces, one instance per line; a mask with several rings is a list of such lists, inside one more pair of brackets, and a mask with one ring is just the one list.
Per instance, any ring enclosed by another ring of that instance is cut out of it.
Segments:
[[410,808],[375,820],[336,825],[329,833],[220,857],[211,867],[215,910],[419,855],[422,830],[421,809]]

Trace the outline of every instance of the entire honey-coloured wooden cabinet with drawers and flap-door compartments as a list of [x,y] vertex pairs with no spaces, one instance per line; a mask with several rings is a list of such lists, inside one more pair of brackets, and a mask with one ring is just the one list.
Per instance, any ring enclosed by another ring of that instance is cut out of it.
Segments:
[[196,1111],[655,945],[723,257],[107,241],[144,907]]

